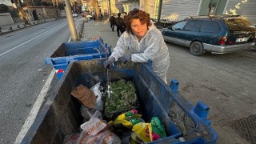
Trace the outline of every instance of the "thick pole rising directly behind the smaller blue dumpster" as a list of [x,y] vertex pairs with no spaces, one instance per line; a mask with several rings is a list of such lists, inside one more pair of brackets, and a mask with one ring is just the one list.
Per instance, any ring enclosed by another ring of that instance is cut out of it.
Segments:
[[75,26],[74,26],[74,18],[73,18],[72,11],[71,11],[70,1],[65,0],[65,3],[66,3],[66,6],[65,6],[66,18],[67,18],[67,22],[70,27],[71,39],[72,39],[72,42],[77,42],[78,34],[77,34],[77,30],[75,29]]

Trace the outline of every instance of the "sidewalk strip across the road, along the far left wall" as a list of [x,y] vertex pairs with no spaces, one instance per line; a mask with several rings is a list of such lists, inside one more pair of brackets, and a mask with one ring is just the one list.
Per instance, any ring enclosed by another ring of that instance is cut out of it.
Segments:
[[7,34],[7,33],[10,33],[10,32],[16,31],[16,30],[21,30],[21,29],[24,29],[29,26],[38,25],[40,23],[51,22],[54,20],[56,20],[56,18],[47,18],[47,19],[42,19],[42,20],[37,20],[37,21],[30,21],[29,22],[30,24],[28,24],[28,25],[25,25],[24,22],[15,22],[15,23],[12,23],[9,25],[0,26],[1,27],[0,35]]

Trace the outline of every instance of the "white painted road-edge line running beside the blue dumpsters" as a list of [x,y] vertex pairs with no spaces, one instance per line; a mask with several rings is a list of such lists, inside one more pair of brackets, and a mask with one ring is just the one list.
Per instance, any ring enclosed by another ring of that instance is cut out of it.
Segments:
[[[79,22],[78,22],[78,24],[79,24]],[[78,25],[76,26],[76,29],[78,29]],[[70,36],[70,39],[68,40],[68,42],[70,42],[70,40],[71,40],[71,36]],[[14,144],[21,143],[22,139],[25,137],[27,131],[30,129],[30,126],[32,126],[34,119],[38,115],[38,112],[42,106],[42,102],[44,101],[44,98],[46,97],[46,94],[50,88],[50,83],[52,82],[52,80],[54,78],[54,74],[55,74],[55,70],[53,69],[53,70],[51,70],[50,75],[47,78],[45,85],[42,87],[42,90],[41,90],[40,94],[38,95],[37,100],[34,102],[34,106],[30,110],[30,114],[26,118],[26,121],[24,122],[24,124],[22,126],[22,130],[20,130],[20,132],[18,133],[18,137],[16,138]]]

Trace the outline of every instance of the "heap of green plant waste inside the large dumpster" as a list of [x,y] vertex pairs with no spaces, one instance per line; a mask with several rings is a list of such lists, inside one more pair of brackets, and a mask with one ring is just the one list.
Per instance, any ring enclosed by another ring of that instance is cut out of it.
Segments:
[[134,83],[124,79],[111,83],[110,97],[106,96],[104,114],[114,114],[138,106]]

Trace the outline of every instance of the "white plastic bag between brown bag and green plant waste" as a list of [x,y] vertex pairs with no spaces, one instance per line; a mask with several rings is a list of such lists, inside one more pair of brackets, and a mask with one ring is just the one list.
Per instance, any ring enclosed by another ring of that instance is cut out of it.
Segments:
[[102,101],[102,93],[100,90],[101,82],[98,82],[96,85],[92,86],[90,90],[93,90],[94,95],[96,96],[96,102],[95,102],[95,109],[96,110],[103,110],[103,101]]

